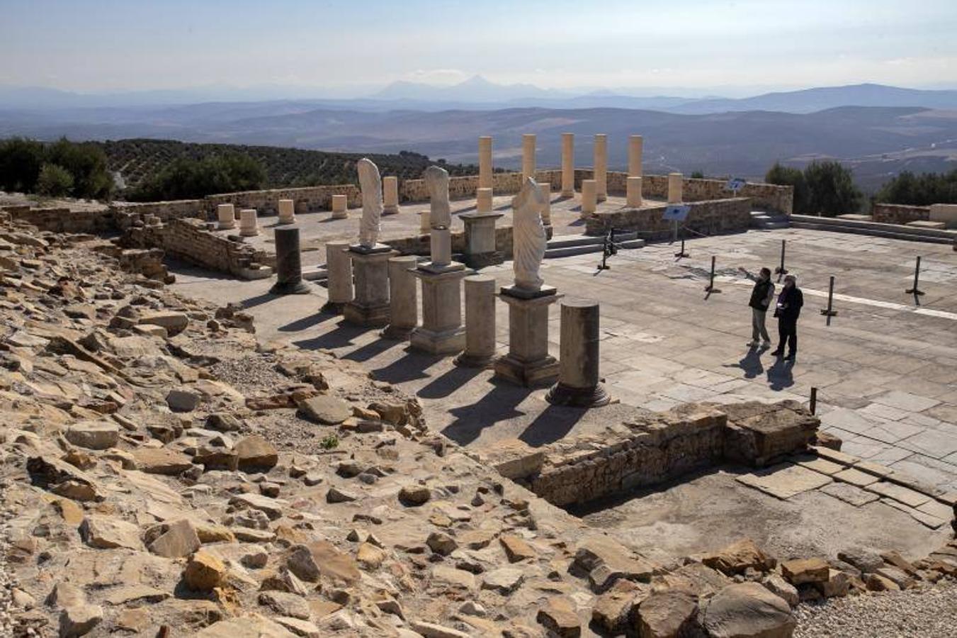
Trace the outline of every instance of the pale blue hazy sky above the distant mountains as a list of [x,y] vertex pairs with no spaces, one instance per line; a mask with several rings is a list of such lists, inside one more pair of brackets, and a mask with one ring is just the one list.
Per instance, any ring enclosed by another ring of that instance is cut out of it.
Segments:
[[957,0],[0,0],[0,84],[957,86]]

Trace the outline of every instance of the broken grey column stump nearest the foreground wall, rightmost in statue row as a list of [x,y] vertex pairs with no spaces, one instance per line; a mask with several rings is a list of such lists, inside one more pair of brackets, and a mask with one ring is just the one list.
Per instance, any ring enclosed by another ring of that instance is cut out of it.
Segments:
[[598,380],[598,302],[562,302],[558,383],[545,396],[549,403],[597,407],[611,400]]

